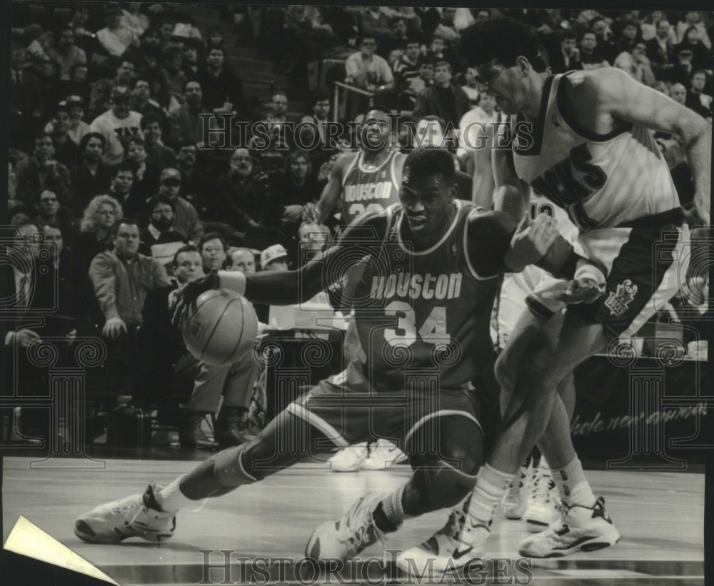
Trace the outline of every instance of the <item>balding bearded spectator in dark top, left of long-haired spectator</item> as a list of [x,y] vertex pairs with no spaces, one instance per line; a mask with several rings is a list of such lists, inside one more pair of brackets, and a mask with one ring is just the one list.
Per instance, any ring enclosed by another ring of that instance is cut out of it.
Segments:
[[212,214],[238,232],[249,226],[260,226],[258,220],[268,211],[265,173],[253,173],[253,160],[247,148],[236,148],[231,156],[231,170],[216,181]]

